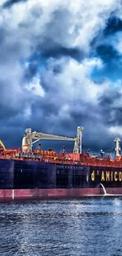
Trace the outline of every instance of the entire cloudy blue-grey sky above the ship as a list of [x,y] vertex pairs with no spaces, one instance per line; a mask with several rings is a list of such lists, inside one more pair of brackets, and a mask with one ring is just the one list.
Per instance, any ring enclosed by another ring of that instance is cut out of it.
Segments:
[[1,0],[0,139],[79,125],[83,150],[122,136],[122,1]]

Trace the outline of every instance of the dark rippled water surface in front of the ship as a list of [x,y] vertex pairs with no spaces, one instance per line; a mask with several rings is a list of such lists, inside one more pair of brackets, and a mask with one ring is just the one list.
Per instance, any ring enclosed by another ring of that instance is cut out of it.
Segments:
[[122,199],[1,202],[0,255],[122,255]]

